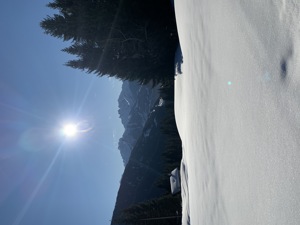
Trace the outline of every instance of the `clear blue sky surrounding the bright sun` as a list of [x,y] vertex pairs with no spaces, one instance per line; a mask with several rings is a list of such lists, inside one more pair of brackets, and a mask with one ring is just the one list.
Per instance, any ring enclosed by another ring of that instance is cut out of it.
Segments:
[[[109,224],[124,169],[121,83],[63,66],[68,44],[39,27],[47,2],[0,3],[0,222]],[[68,121],[91,130],[67,139]]]

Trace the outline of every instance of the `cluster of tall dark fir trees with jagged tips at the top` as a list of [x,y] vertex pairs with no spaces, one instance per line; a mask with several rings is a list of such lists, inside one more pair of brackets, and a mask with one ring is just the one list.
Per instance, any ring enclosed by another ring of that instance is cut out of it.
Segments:
[[178,45],[175,14],[167,0],[54,0],[57,11],[40,25],[69,41],[67,66],[98,76],[154,84],[173,79]]

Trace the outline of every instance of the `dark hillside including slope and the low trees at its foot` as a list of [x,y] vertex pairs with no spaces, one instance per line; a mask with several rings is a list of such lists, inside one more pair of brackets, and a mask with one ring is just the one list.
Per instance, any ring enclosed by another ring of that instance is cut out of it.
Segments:
[[180,167],[181,140],[174,115],[174,82],[159,89],[159,98],[125,167],[111,225],[145,225],[143,218],[172,216],[148,225],[180,222],[181,197],[170,193],[169,173]]

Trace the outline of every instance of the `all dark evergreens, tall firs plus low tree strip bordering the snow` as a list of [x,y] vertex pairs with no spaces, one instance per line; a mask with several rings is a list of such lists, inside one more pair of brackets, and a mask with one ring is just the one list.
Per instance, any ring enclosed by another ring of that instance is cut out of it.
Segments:
[[[155,185],[165,190],[114,215],[112,224],[179,224],[180,194],[170,194],[168,172],[180,166],[181,140],[174,117],[174,56],[178,48],[175,13],[164,0],[54,0],[47,4],[56,14],[40,26],[47,35],[70,46],[62,49],[73,58],[66,66],[97,76],[161,86],[166,115],[161,123],[165,147],[162,174]],[[172,216],[173,219],[144,218]],[[175,215],[175,216],[174,216]],[[175,218],[175,220],[174,220]]]

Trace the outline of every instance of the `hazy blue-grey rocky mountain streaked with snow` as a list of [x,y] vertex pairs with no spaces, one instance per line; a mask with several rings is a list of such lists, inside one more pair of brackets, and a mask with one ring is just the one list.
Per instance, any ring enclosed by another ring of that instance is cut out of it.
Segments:
[[151,108],[158,99],[158,87],[124,81],[120,93],[119,115],[125,131],[119,140],[119,150],[124,165],[127,164],[136,141],[142,134]]

